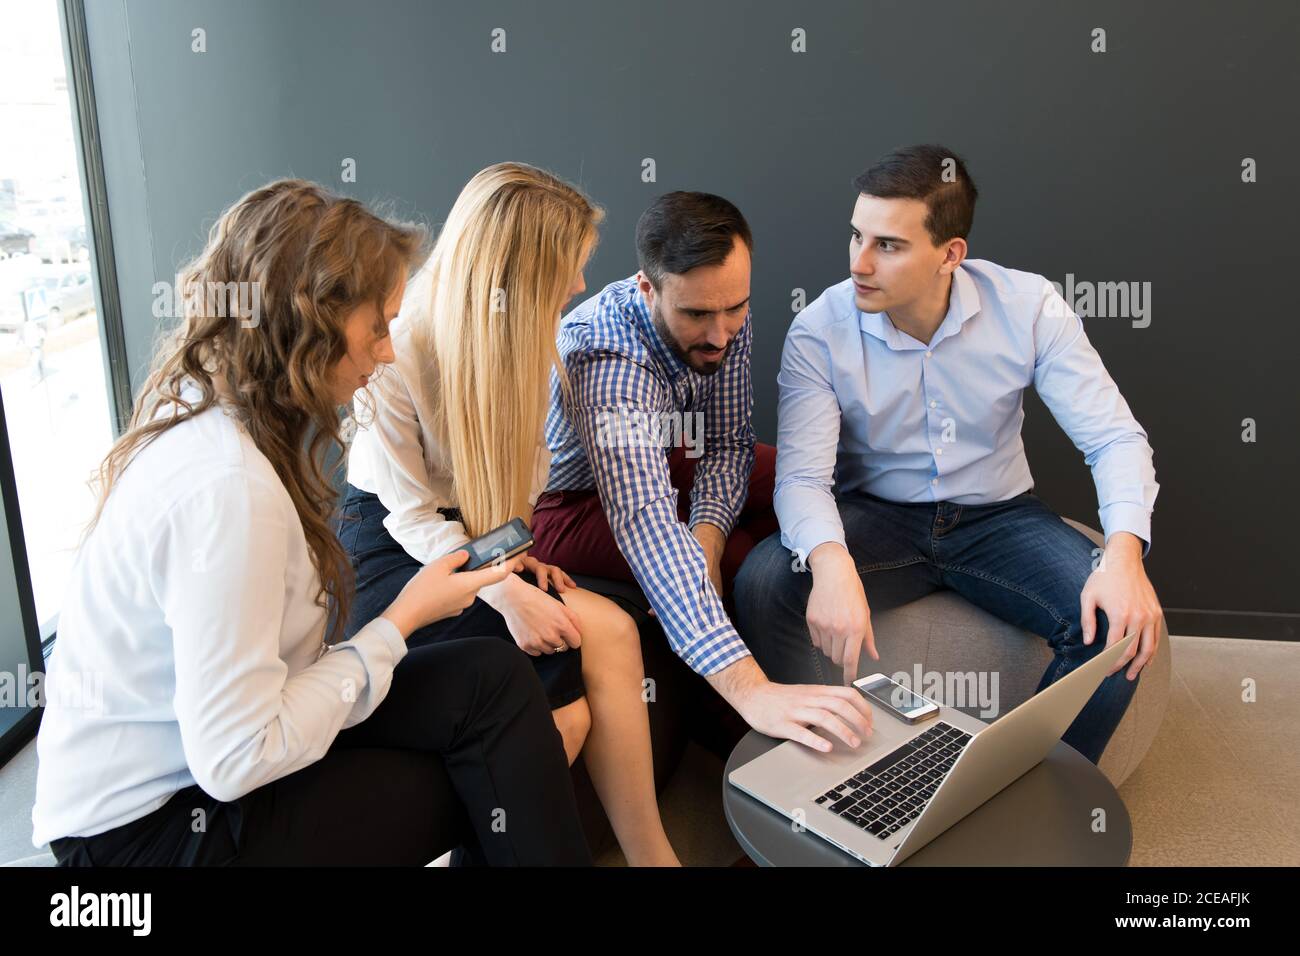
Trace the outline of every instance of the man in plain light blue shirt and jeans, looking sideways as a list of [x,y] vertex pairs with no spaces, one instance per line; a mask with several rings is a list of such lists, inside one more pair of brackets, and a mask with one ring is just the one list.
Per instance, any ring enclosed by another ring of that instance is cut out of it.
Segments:
[[[740,631],[772,680],[849,684],[879,659],[871,609],[946,587],[1048,640],[1039,689],[1136,631],[1063,737],[1096,762],[1160,639],[1147,433],[1048,280],[966,259],[978,193],[956,153],[906,147],[854,185],[852,277],[785,339],[781,531],[737,578]],[[1097,559],[1031,492],[1030,385],[1092,470]]]

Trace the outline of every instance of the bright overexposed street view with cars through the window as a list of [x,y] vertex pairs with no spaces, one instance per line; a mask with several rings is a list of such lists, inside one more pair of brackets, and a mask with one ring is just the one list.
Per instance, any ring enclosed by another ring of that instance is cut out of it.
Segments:
[[0,33],[0,389],[36,617],[57,615],[112,442],[95,276],[55,0]]

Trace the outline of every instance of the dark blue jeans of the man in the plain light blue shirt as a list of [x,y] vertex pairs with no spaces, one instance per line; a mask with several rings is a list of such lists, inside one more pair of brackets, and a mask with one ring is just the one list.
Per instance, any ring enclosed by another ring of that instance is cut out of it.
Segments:
[[[868,494],[837,501],[845,542],[872,611],[950,588],[991,614],[1044,637],[1053,661],[1048,687],[1106,646],[1106,615],[1083,643],[1079,597],[1095,545],[1026,492],[993,505],[900,505]],[[812,575],[796,570],[780,533],[755,548],[736,578],[741,636],[772,680],[840,683],[841,671],[809,636]],[[863,653],[859,665],[870,666]],[[1119,726],[1138,680],[1119,670],[1083,708],[1062,740],[1096,763]]]

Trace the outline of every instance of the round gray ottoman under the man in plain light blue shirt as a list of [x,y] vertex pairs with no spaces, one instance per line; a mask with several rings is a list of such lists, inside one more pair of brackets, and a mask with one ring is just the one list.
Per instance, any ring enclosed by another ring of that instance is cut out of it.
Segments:
[[[1092,528],[1065,520],[1097,545],[1102,544],[1101,535]],[[944,702],[982,721],[993,721],[1028,700],[1052,661],[1045,640],[994,618],[952,591],[939,591],[902,607],[872,614],[871,624],[880,661],[868,658],[863,667],[875,667],[888,675],[901,671],[907,675],[909,685],[922,693],[935,687],[941,675],[940,698],[944,689],[958,691],[961,700]],[[1165,717],[1170,649],[1169,632],[1164,624],[1161,628],[1156,657],[1143,669],[1132,702],[1101,754],[1100,769],[1115,787],[1147,756]],[[920,683],[915,683],[918,671]],[[993,674],[998,682],[996,717],[982,713],[982,702],[988,697],[979,687],[983,678],[983,689],[992,691]],[[963,682],[953,675],[967,675],[967,679]]]

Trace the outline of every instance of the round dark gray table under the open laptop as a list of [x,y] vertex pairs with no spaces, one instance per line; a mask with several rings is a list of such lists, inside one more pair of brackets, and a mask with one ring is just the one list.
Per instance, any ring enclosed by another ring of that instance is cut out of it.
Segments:
[[[731,771],[783,741],[750,731],[723,773],[723,809],[736,840],[759,866],[864,866],[816,834],[727,782]],[[1106,812],[1095,832],[1093,809]],[[1119,793],[1097,767],[1065,743],[1010,787],[976,808],[902,866],[1123,866],[1132,825]]]

